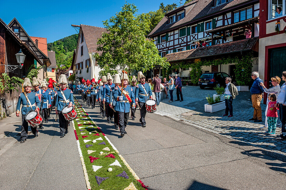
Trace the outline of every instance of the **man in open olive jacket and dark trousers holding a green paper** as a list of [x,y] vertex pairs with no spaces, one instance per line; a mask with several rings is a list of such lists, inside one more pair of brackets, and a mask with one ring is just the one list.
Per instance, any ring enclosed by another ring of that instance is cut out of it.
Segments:
[[225,78],[225,83],[227,84],[227,87],[225,88],[225,114],[223,116],[232,117],[233,116],[233,99],[238,95],[237,87],[231,83],[231,78],[227,77]]

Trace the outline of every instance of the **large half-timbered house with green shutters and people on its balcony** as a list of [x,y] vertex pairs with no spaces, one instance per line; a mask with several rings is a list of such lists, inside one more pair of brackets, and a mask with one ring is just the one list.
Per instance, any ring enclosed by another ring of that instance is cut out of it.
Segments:
[[[245,32],[251,29],[250,38]],[[259,0],[194,0],[165,14],[148,34],[159,55],[175,62],[220,59],[222,56],[253,51],[258,57]],[[203,42],[206,42],[203,44]],[[195,47],[195,42],[206,47]],[[204,51],[205,49],[205,51]],[[254,70],[258,69],[256,64]],[[202,67],[203,72],[225,72],[234,75],[235,63]],[[153,74],[161,74],[162,67]],[[189,76],[189,68],[173,70]]]

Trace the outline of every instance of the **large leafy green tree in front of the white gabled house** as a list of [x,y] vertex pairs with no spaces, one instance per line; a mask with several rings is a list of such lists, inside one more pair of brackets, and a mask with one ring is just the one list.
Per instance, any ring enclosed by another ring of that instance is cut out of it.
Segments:
[[103,33],[97,42],[97,50],[102,51],[94,57],[102,70],[116,71],[134,70],[149,71],[154,65],[168,67],[165,57],[158,55],[153,41],[146,39],[146,31],[150,30],[148,14],[135,15],[138,11],[134,4],[126,3],[122,11],[109,20],[103,21],[108,33]]

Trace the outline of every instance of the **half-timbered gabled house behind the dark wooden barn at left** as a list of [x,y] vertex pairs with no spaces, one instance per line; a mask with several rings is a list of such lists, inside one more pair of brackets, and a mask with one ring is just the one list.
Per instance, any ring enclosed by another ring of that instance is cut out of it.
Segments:
[[[38,80],[42,81],[47,76],[47,67],[51,65],[51,61],[49,60],[49,57],[47,56],[47,53],[43,53],[43,51],[40,50],[38,47],[39,42],[38,39],[35,39],[35,42],[33,39],[28,35],[28,33],[24,30],[24,28],[21,26],[19,21],[17,21],[16,18],[14,18],[8,26],[12,29],[12,31],[19,37],[23,42],[26,42],[27,45],[33,50],[33,52],[38,56],[40,62],[35,60],[35,66],[39,67],[41,65],[44,65],[42,69],[39,69],[38,74]],[[47,50],[45,50],[47,51]]]

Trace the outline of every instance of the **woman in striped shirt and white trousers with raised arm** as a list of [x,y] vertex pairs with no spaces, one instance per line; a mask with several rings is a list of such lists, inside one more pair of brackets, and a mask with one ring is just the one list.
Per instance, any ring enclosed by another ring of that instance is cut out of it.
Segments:
[[[271,78],[271,83],[272,83],[273,87],[267,89],[264,86],[263,83],[260,83],[260,85],[263,87],[264,92],[267,93],[267,97],[268,97],[268,95],[270,93],[275,93],[275,96],[276,96],[276,99],[277,99],[277,97],[278,97],[278,95],[280,93],[280,90],[281,90],[280,85],[279,85],[280,82],[281,82],[280,77],[276,76],[276,77],[272,77]],[[267,110],[268,110],[268,102],[269,102],[269,100],[267,98],[267,103],[266,103],[267,106],[266,106],[266,111],[265,111],[265,126],[264,127],[260,127],[260,129],[268,129],[267,117],[266,117]]]

